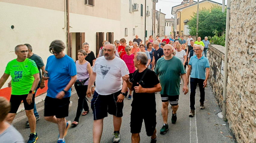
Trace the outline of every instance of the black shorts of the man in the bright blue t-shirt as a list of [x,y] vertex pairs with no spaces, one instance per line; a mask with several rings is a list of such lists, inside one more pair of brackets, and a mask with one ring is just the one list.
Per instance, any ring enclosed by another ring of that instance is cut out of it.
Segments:
[[68,116],[70,97],[58,99],[45,97],[45,117],[56,116],[56,118],[64,118]]

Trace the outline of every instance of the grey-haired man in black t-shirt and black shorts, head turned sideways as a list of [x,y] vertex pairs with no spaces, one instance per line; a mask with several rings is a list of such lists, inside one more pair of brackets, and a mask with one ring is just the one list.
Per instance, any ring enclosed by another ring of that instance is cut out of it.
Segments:
[[137,52],[134,65],[138,70],[133,73],[131,81],[129,81],[129,74],[124,76],[129,89],[134,90],[130,125],[132,142],[140,141],[139,133],[143,119],[147,135],[151,136],[151,142],[156,142],[155,92],[160,92],[162,88],[155,72],[146,67],[147,61],[148,58],[144,52]]

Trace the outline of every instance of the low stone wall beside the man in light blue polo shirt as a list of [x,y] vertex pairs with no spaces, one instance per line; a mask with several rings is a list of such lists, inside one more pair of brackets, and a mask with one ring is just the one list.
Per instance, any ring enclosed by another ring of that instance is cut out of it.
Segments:
[[[209,45],[208,60],[210,63],[209,82],[214,92],[215,98],[219,101],[220,107],[223,105],[223,64],[225,47],[221,45]],[[222,71],[222,72],[221,72]]]

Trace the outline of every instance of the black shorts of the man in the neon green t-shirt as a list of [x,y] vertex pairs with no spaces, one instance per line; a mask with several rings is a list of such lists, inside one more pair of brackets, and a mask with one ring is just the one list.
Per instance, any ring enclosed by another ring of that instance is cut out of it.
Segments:
[[11,103],[11,111],[9,113],[17,113],[20,103],[23,100],[25,110],[32,110],[34,109],[34,102],[35,102],[35,94],[32,97],[32,103],[27,103],[27,94],[24,95],[11,95],[10,103]]

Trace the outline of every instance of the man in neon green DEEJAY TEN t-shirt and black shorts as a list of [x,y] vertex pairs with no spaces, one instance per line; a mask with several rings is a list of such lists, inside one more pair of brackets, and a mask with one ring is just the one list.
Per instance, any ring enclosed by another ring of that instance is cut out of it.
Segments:
[[39,71],[36,63],[27,58],[28,48],[26,45],[15,47],[17,59],[10,61],[5,69],[5,73],[0,79],[0,89],[11,75],[11,111],[6,120],[11,124],[16,112],[23,100],[26,115],[30,124],[30,138],[27,143],[35,143],[38,139],[36,133],[36,117],[34,116],[35,89],[39,83]]

